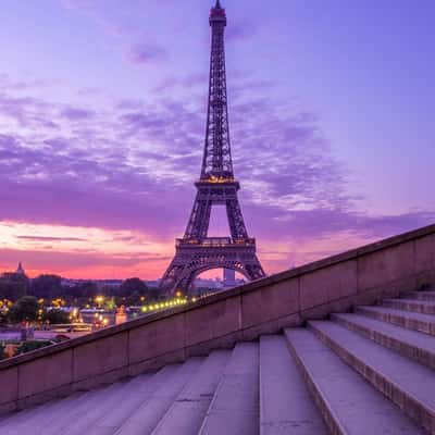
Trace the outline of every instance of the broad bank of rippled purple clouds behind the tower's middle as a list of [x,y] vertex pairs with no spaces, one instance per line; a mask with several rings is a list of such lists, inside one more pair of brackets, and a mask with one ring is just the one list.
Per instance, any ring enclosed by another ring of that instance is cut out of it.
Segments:
[[[268,268],[282,269],[434,220],[432,210],[381,216],[361,212],[362,200],[348,192],[347,171],[332,157],[319,115],[291,101],[276,104],[253,97],[260,94],[256,87],[269,86],[236,79],[229,108],[248,231],[259,247],[281,240],[268,251],[289,252],[265,252]],[[11,92],[0,95],[0,121],[12,117],[25,128],[0,135],[0,221],[133,229],[173,246],[195,197],[204,101],[124,100],[102,112]],[[316,240],[323,245],[313,247]]]

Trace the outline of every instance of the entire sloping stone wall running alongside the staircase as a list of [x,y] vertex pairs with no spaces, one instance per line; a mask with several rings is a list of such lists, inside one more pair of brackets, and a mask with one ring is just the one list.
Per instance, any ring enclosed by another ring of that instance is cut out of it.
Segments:
[[435,225],[0,362],[0,412],[435,283]]

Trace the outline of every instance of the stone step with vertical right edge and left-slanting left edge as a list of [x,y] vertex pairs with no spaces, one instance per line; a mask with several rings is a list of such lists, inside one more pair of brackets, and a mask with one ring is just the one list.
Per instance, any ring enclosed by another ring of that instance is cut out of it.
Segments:
[[259,434],[257,343],[239,343],[234,348],[199,434]]

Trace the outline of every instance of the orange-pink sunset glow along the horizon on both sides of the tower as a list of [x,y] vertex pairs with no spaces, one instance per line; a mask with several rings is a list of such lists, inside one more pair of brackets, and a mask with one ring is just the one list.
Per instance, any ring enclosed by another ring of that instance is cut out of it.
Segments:
[[[333,239],[262,240],[259,258],[265,272],[273,274],[370,241],[346,232]],[[137,276],[153,281],[161,277],[173,254],[174,243],[140,232],[0,222],[0,273],[16,270],[21,261],[29,277],[52,273],[83,279]],[[222,277],[222,271],[201,276]]]

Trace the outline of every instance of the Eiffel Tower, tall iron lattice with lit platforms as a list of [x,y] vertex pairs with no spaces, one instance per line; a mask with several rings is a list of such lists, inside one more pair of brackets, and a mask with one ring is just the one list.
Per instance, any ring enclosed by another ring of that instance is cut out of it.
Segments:
[[[176,253],[160,283],[166,294],[188,293],[200,273],[212,269],[229,269],[249,281],[265,276],[256,254],[256,239],[248,236],[234,177],[229,145],[226,95],[225,9],[220,0],[210,12],[212,29],[209,107],[202,170],[195,184],[197,196],[189,223],[182,239],[176,240]],[[231,237],[208,237],[211,209],[225,206]]]

